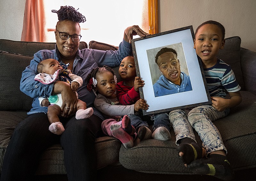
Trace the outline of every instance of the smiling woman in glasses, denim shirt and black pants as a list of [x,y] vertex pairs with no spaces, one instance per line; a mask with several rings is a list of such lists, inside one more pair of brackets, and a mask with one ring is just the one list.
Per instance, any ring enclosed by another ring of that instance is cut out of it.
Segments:
[[[88,119],[76,120],[77,97],[68,83],[57,81],[54,84],[42,84],[34,81],[37,65],[44,59],[56,59],[68,64],[74,74],[86,77],[95,67],[107,65],[119,66],[122,59],[132,54],[131,39],[133,35],[149,35],[138,26],[125,29],[124,39],[117,51],[100,51],[92,49],[79,50],[80,25],[85,17],[71,6],[61,6],[57,12],[59,21],[56,25],[56,49],[41,50],[35,53],[30,65],[22,73],[20,90],[35,98],[28,117],[15,128],[7,147],[1,173],[4,180],[29,180],[35,174],[41,153],[54,143],[60,142],[64,149],[64,163],[68,180],[96,180],[97,158],[94,147],[97,133],[101,131],[104,119],[101,113],[93,108],[93,115]],[[61,93],[62,122],[65,131],[55,135],[48,130],[47,108],[41,107],[37,97],[48,97]],[[95,95],[83,85],[77,90],[79,98],[87,107],[93,106]]]

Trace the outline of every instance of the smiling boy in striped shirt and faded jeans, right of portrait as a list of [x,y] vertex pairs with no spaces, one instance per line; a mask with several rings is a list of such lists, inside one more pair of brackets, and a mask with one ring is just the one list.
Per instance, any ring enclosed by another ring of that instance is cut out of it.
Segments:
[[[225,28],[212,20],[202,23],[195,32],[194,48],[202,60],[212,105],[199,106],[187,113],[183,111],[186,114],[185,118],[181,118],[180,111],[175,110],[170,112],[169,119],[171,123],[177,121],[177,117],[180,117],[180,121],[188,119],[202,140],[201,149],[189,142],[177,146],[178,157],[188,169],[196,174],[231,180],[234,173],[226,158],[227,149],[218,129],[212,123],[227,116],[229,108],[242,101],[239,93],[241,87],[236,82],[231,67],[216,57],[219,49],[224,48],[224,36]],[[229,99],[225,98],[226,91]],[[208,159],[196,160],[206,155]]]

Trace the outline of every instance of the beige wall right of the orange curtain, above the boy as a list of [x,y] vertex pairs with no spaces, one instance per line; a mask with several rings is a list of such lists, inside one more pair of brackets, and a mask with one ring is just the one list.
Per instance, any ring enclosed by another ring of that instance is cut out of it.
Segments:
[[159,32],[196,28],[207,20],[219,21],[226,37],[240,36],[241,46],[256,51],[255,0],[158,0]]

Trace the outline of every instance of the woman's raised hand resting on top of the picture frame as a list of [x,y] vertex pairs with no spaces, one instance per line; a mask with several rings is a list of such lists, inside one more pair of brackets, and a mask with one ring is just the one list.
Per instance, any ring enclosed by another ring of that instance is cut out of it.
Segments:
[[148,36],[150,34],[146,33],[142,29],[140,29],[140,27],[138,25],[133,25],[131,27],[127,27],[124,30],[124,40],[126,42],[131,43],[133,35],[139,35],[140,37],[145,37],[145,36]]

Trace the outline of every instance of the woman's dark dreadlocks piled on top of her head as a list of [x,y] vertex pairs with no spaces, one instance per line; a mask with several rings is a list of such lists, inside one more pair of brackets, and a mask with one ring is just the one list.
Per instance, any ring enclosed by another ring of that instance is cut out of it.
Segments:
[[60,6],[60,10],[52,10],[52,12],[57,13],[58,20],[71,20],[78,23],[86,21],[85,17],[72,6]]

